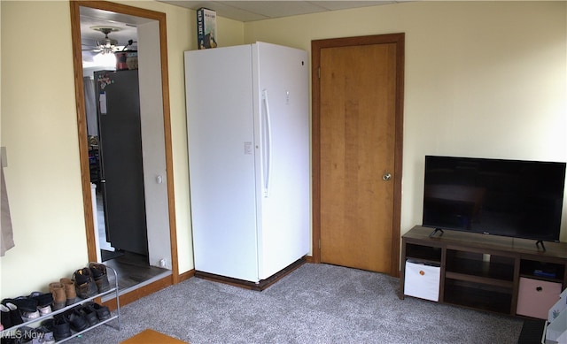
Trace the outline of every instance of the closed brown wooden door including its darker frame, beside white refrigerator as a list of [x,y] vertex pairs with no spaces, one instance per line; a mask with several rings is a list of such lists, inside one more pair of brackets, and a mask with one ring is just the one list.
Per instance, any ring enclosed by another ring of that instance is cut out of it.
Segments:
[[312,51],[320,261],[398,276],[403,34],[325,40]]

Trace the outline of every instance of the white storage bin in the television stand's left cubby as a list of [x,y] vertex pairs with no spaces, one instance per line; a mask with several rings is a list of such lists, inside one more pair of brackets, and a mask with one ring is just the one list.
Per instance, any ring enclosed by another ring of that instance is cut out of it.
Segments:
[[439,266],[406,261],[404,294],[438,302],[440,271]]

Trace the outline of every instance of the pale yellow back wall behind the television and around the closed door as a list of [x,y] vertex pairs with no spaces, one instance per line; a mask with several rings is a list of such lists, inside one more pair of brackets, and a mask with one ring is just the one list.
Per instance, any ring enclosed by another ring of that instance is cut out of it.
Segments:
[[246,23],[245,41],[310,50],[316,39],[406,34],[405,233],[421,223],[425,155],[567,161],[566,4],[387,4]]

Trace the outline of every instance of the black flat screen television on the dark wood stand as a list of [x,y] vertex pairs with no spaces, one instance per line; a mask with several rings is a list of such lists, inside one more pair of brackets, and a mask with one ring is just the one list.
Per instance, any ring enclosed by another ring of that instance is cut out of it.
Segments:
[[423,226],[543,246],[559,241],[564,185],[565,163],[426,156]]

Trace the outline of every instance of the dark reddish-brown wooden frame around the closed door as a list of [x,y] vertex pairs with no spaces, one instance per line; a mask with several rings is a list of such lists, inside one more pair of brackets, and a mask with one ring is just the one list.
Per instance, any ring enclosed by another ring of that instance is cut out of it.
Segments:
[[403,104],[405,34],[376,34],[357,37],[330,38],[311,42],[312,82],[312,173],[313,173],[313,261],[321,263],[321,50],[369,44],[396,44],[395,148],[393,171],[392,267],[394,277],[400,276],[401,172],[403,153]]

